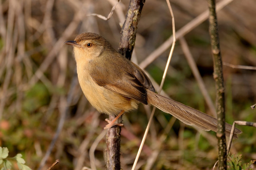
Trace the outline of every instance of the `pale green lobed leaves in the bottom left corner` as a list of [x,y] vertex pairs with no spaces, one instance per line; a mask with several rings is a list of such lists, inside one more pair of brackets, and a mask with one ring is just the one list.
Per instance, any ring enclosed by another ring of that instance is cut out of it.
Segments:
[[21,158],[22,155],[18,153],[12,158],[8,158],[9,150],[6,147],[0,147],[0,170],[10,170],[13,164],[16,162],[19,170],[31,170],[27,165],[26,161]]

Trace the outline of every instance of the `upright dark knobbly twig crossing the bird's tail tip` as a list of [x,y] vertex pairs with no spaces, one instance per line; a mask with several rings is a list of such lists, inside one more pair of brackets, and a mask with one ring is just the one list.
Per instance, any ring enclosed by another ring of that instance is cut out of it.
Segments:
[[211,39],[212,55],[214,60],[214,73],[216,86],[217,107],[217,138],[218,138],[218,167],[219,170],[227,169],[227,146],[225,136],[225,93],[222,72],[222,60],[219,48],[218,23],[215,11],[215,0],[208,0],[209,4],[209,34]]

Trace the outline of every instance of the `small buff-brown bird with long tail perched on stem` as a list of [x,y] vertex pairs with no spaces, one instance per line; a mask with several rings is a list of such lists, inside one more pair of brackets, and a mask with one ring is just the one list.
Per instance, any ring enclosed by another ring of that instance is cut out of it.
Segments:
[[[85,97],[99,112],[119,117],[123,112],[137,109],[138,103],[142,102],[170,113],[187,125],[216,132],[217,119],[154,93],[144,71],[115,51],[102,36],[83,33],[77,35],[75,41],[65,43],[74,47],[79,84]],[[106,128],[114,126],[114,121]],[[225,133],[229,135],[232,126],[228,123],[225,126]],[[236,128],[235,136],[240,133]]]

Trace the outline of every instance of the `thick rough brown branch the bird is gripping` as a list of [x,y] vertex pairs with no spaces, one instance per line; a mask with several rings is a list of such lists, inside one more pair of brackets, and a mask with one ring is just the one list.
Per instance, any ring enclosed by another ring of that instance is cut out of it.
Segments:
[[[119,52],[131,59],[133,48],[135,45],[137,25],[141,17],[142,7],[145,0],[131,0],[126,18],[121,31],[121,41],[119,44]],[[113,120],[114,116],[109,116],[109,120]],[[122,116],[117,120],[122,123]],[[106,169],[120,170],[120,134],[121,127],[114,126],[107,130],[106,134]]]

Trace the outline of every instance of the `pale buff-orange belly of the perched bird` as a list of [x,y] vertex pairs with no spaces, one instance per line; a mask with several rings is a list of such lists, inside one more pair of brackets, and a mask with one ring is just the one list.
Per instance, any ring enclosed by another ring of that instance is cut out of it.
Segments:
[[78,80],[85,97],[99,112],[118,114],[122,110],[130,111],[138,106],[138,102],[135,100],[97,85],[90,76],[81,78],[78,75]]

